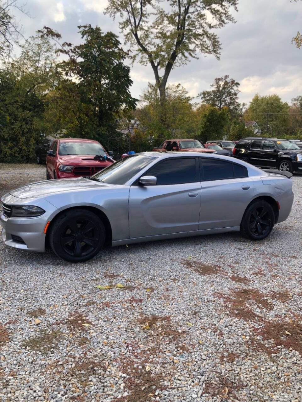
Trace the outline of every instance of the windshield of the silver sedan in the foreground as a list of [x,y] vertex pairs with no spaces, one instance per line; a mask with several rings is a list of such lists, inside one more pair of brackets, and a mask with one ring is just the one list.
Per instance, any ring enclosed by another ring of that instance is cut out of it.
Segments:
[[123,185],[154,159],[153,156],[139,154],[128,156],[91,176],[91,180]]

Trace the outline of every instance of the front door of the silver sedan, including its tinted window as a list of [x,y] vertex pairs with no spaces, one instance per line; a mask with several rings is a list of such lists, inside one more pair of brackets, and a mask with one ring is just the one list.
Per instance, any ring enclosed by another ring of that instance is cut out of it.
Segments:
[[201,185],[197,164],[194,157],[165,159],[144,174],[155,176],[156,185],[130,187],[130,238],[198,230]]

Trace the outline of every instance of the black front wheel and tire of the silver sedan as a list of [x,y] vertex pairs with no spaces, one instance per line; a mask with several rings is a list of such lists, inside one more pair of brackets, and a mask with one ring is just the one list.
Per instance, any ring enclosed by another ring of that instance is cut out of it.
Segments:
[[71,263],[80,263],[90,260],[103,248],[105,227],[95,213],[72,209],[54,220],[49,242],[57,256]]

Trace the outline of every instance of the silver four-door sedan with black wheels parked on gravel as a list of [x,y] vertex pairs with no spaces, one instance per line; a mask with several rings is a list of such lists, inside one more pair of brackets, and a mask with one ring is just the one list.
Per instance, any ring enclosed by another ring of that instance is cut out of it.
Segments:
[[36,252],[49,243],[72,262],[89,260],[106,243],[239,231],[262,240],[292,208],[291,174],[277,173],[213,154],[134,154],[89,179],[10,191],[1,199],[1,238]]

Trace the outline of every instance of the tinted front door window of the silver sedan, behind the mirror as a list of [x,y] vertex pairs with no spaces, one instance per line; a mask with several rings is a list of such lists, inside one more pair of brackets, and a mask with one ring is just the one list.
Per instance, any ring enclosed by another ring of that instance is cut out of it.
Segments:
[[159,162],[145,175],[155,176],[157,185],[194,183],[195,158],[173,158]]

